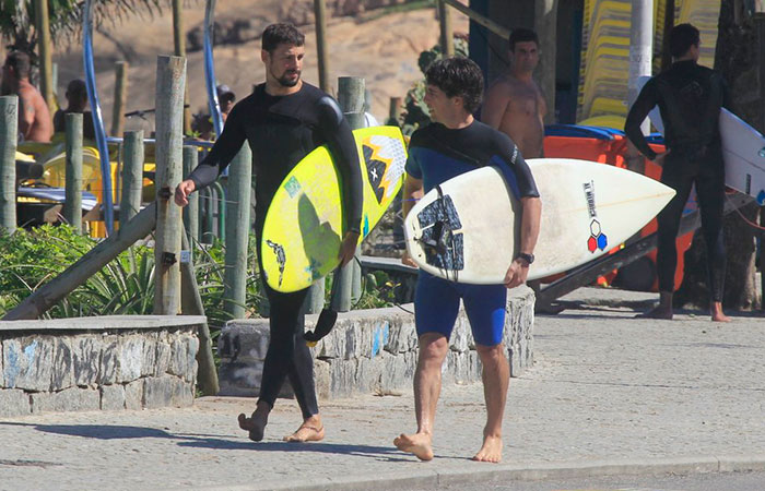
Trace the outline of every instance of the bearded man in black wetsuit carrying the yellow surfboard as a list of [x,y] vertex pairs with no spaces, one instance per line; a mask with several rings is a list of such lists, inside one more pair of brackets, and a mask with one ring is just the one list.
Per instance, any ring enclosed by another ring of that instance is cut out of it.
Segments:
[[[317,146],[329,144],[342,176],[344,237],[340,246],[341,264],[356,250],[362,215],[362,178],[358,154],[351,129],[338,104],[320,89],[301,80],[305,53],[304,35],[290,24],[273,24],[262,36],[261,60],[266,83],[240,100],[231,111],[221,137],[210,154],[178,184],[175,201],[185,206],[187,196],[211,184],[238,153],[245,141],[252,148],[252,176],[256,178],[255,231],[260,236],[266,211],[286,175]],[[243,226],[245,224],[242,224]],[[285,227],[291,226],[285,224]],[[297,224],[294,224],[297,227]],[[243,264],[242,267],[245,267]],[[262,264],[261,264],[262,271]],[[263,363],[260,398],[251,417],[239,415],[239,427],[249,438],[260,441],[285,378],[303,411],[303,424],[284,440],[319,441],[325,431],[314,386],[314,361],[303,339],[303,303],[308,290],[282,294],[263,280],[271,316],[271,339]]]

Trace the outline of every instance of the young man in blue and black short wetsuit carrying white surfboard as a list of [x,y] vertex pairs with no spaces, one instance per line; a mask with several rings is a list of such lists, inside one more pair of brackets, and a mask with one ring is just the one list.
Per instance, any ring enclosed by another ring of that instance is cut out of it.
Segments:
[[[414,132],[410,142],[404,214],[412,208],[415,199],[437,184],[481,166],[497,166],[522,204],[520,253],[507,267],[504,285],[456,284],[420,272],[414,295],[420,344],[414,374],[417,431],[401,434],[393,443],[422,460],[433,458],[440,369],[461,299],[483,364],[487,412],[483,445],[473,459],[496,463],[502,459],[502,419],[510,376],[502,343],[507,288],[522,284],[528,276],[542,205],[518,147],[506,134],[473,119],[483,93],[481,69],[467,58],[439,60],[427,70],[426,82],[425,104],[434,122]],[[475,193],[480,195],[481,190],[476,189]],[[414,265],[408,255],[403,262]]]

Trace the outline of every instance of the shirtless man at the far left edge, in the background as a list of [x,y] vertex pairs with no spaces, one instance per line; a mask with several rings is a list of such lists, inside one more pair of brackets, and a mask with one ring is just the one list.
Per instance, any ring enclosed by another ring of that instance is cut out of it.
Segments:
[[19,96],[19,133],[25,142],[49,142],[54,134],[48,105],[30,83],[30,56],[13,51],[2,65],[2,95]]

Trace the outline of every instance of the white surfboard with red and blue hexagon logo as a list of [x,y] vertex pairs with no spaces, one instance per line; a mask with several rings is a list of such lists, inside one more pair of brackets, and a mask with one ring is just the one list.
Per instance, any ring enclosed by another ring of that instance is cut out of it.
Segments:
[[[636,172],[587,160],[529,159],[542,199],[529,279],[587,263],[654,218],[674,191]],[[520,202],[499,170],[482,167],[426,193],[404,219],[417,265],[459,283],[502,284],[520,241]]]

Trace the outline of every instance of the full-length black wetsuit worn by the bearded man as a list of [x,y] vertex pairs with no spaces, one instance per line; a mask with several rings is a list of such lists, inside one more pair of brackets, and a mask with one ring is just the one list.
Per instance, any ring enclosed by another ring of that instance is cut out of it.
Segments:
[[[267,94],[264,84],[256,87],[252,95],[234,106],[221,137],[188,177],[197,190],[217,179],[245,140],[252,149],[259,264],[263,220],[273,194],[295,165],[323,144],[330,146],[343,181],[344,229],[358,231],[362,216],[358,153],[351,129],[331,97],[305,82],[297,93],[287,96]],[[303,303],[308,290],[282,294],[271,289],[264,280],[263,285],[271,309],[271,340],[263,363],[260,400],[273,407],[289,376],[303,417],[308,418],[319,411],[314,361],[303,339]]]

